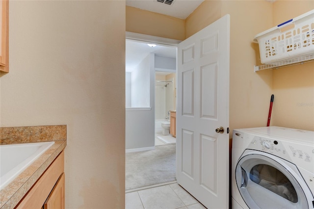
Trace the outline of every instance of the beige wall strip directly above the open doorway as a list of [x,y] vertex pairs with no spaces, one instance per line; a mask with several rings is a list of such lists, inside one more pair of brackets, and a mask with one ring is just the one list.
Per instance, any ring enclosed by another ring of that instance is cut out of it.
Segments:
[[126,31],[184,40],[184,20],[127,6]]

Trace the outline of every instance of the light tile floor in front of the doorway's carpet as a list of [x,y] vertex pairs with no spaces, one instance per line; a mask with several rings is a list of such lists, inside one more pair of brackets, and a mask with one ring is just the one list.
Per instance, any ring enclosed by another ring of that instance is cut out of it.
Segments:
[[126,193],[126,209],[206,209],[178,183]]

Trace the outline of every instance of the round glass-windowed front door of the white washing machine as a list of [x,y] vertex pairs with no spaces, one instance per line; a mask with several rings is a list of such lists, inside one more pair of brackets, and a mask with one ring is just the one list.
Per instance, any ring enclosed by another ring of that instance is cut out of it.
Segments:
[[245,150],[235,168],[237,188],[250,209],[313,209],[313,195],[297,167],[282,158]]

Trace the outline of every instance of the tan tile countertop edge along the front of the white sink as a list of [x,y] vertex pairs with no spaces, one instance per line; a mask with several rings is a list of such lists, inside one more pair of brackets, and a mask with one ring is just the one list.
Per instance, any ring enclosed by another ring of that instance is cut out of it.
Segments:
[[[2,135],[1,138],[3,138]],[[62,150],[64,150],[67,144],[66,139],[45,139],[41,141],[54,141],[54,144],[44,154],[30,164],[17,178],[0,190],[0,209],[14,208],[22,200],[33,184],[36,183],[40,176],[45,172],[52,161],[62,152]],[[35,139],[33,142],[38,142],[38,140]]]

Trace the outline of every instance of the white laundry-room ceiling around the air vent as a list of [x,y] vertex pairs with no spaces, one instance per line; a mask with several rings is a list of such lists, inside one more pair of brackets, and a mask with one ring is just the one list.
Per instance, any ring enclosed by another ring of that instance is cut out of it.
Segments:
[[186,19],[204,0],[173,0],[171,5],[157,0],[126,0],[126,5]]

